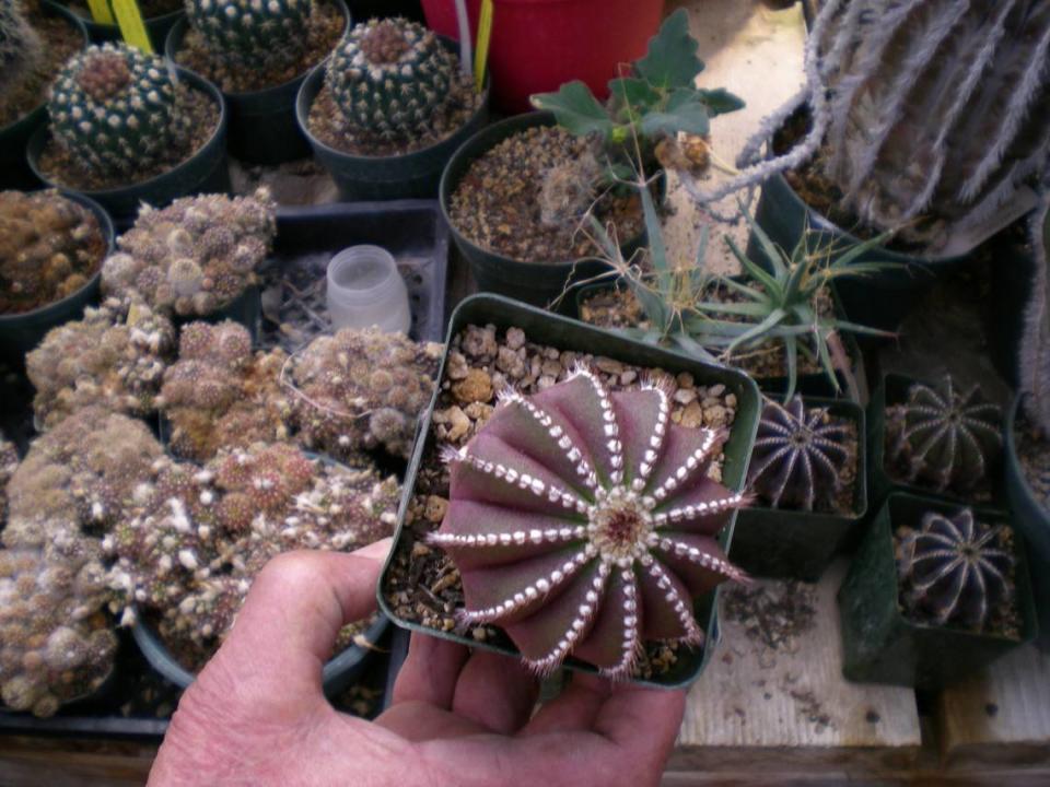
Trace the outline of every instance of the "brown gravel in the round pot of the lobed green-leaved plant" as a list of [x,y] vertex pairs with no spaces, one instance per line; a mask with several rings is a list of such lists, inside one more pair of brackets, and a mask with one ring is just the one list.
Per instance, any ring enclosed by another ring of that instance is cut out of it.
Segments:
[[[450,219],[472,243],[529,262],[565,262],[597,254],[579,221],[542,221],[545,179],[555,167],[588,155],[591,142],[557,126],[533,127],[510,137],[475,161],[452,195]],[[595,215],[616,226],[619,240],[638,236],[643,221],[637,195],[607,193]]]

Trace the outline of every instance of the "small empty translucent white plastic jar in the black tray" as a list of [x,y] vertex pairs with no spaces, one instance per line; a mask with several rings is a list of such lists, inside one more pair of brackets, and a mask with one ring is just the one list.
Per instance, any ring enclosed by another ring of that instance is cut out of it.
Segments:
[[378,246],[351,246],[328,263],[328,317],[336,330],[377,326],[408,333],[408,290],[394,257]]

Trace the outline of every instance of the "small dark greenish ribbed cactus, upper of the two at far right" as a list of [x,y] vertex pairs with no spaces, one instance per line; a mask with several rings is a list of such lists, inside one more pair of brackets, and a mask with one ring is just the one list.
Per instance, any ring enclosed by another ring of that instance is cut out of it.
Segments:
[[980,386],[960,393],[950,377],[915,383],[907,402],[886,408],[887,467],[909,483],[965,496],[988,481],[1002,451],[1002,420]]

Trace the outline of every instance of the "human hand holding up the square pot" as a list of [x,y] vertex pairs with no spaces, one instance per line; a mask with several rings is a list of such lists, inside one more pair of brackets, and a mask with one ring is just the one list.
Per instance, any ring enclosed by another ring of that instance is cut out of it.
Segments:
[[413,635],[393,704],[339,713],[322,669],[339,630],[375,610],[389,540],[350,554],[292,552],[256,578],[225,643],[183,695],[150,773],[180,785],[493,785],[660,782],[685,692],[576,673],[535,714],[518,662]]

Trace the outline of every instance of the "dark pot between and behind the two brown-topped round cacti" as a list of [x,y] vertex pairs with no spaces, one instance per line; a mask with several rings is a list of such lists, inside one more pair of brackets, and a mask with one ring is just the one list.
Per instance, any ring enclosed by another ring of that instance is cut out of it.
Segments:
[[[342,35],[350,28],[350,12],[342,0],[329,0],[342,14]],[[189,30],[182,17],[167,34],[164,54],[172,62]],[[295,119],[295,96],[306,79],[304,72],[280,85],[247,93],[226,93],[230,127],[226,130],[228,149],[234,158],[248,164],[275,165],[310,155],[310,142]]]

